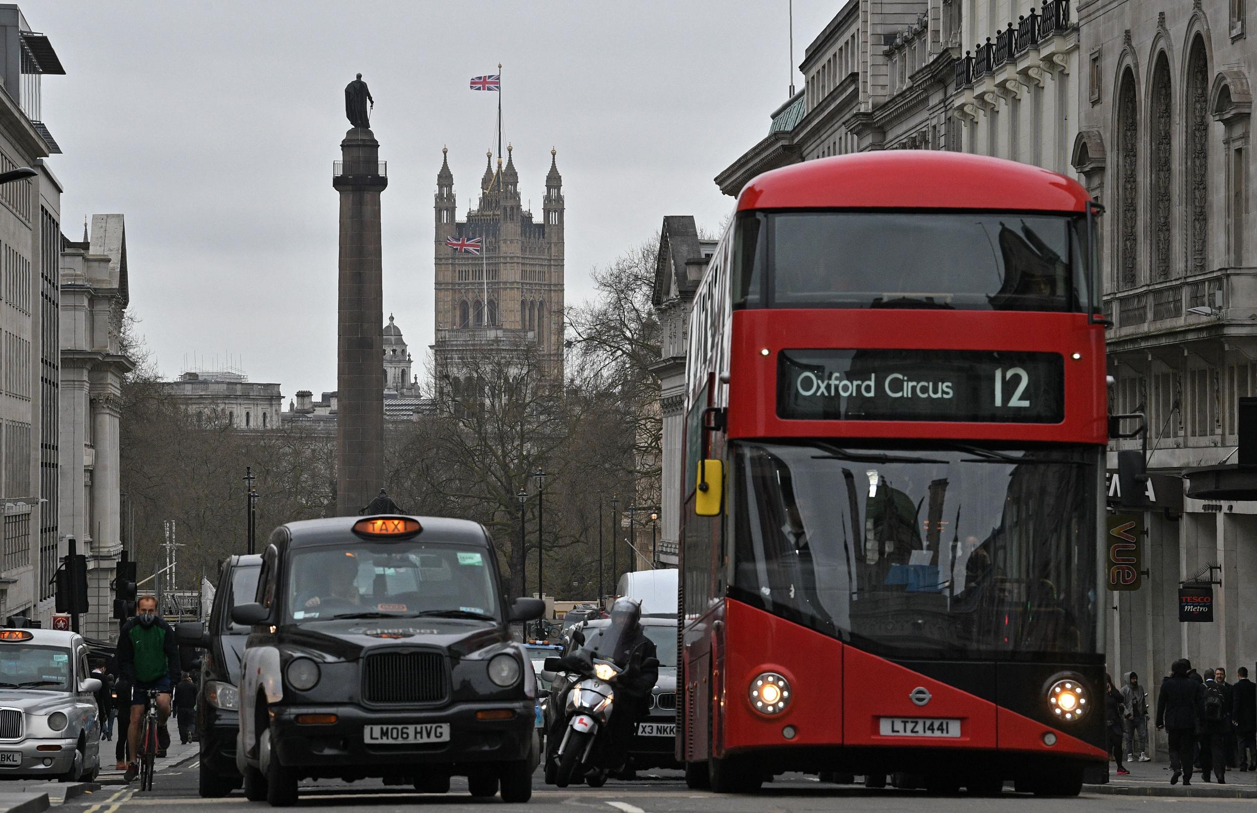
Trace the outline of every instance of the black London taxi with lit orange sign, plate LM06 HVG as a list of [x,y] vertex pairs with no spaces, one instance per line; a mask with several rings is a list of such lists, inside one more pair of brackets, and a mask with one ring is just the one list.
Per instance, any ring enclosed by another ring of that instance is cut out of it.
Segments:
[[245,795],[284,807],[304,778],[382,778],[473,797],[532,797],[533,670],[509,623],[483,525],[376,515],[272,533],[244,650],[236,764]]

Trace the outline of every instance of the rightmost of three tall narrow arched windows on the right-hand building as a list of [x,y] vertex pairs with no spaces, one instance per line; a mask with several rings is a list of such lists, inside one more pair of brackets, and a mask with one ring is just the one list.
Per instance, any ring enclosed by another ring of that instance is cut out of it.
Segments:
[[1187,266],[1209,268],[1209,55],[1204,38],[1192,40],[1187,65]]

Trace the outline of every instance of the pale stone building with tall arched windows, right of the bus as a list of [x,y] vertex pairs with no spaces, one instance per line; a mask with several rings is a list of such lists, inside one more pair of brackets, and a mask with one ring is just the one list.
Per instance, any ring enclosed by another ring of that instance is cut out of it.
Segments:
[[[1111,408],[1148,415],[1156,494],[1144,515],[1148,576],[1110,602],[1114,674],[1164,674],[1185,655],[1233,675],[1257,660],[1257,503],[1192,499],[1183,480],[1236,461],[1237,401],[1257,395],[1252,5],[1081,0],[1076,9],[1084,97],[1072,163],[1107,210]],[[1123,447],[1141,444],[1112,449]],[[1179,623],[1179,582],[1198,574],[1221,582],[1216,619]]]

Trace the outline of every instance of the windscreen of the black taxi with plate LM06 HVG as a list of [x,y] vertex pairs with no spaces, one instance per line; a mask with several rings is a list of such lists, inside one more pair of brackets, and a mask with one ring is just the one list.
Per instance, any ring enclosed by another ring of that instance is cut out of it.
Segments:
[[289,563],[288,617],[500,617],[483,548],[416,542],[351,542],[297,550]]

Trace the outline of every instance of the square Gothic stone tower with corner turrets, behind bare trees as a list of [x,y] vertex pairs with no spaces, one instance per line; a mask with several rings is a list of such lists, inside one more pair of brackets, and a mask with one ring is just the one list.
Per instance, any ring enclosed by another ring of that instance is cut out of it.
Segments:
[[[520,204],[514,151],[507,165],[488,156],[480,199],[458,219],[449,151],[436,175],[435,265],[437,385],[460,376],[463,359],[502,348],[535,346],[547,372],[563,374],[563,178],[556,151],[546,176],[542,220]],[[481,241],[480,254],[451,249],[450,239]]]

